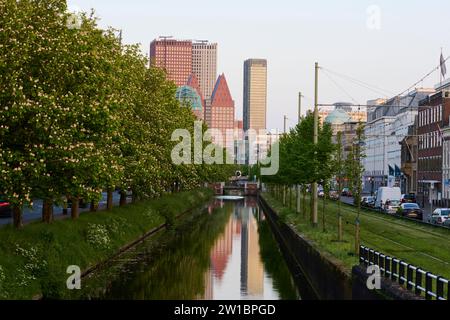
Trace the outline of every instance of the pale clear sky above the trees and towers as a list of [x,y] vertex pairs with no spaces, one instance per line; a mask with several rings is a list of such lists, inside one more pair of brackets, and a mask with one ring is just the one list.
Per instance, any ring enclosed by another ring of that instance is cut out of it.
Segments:
[[[296,124],[314,105],[318,62],[319,103],[392,97],[450,56],[448,0],[68,0],[72,10],[95,10],[101,27],[122,29],[127,44],[161,35],[218,43],[218,74],[225,73],[242,119],[243,64],[268,61],[268,129]],[[450,60],[447,69],[450,70]],[[357,80],[357,81],[355,81]],[[433,87],[439,72],[419,84]],[[356,84],[356,82],[363,85]],[[367,85],[369,84],[369,85]]]

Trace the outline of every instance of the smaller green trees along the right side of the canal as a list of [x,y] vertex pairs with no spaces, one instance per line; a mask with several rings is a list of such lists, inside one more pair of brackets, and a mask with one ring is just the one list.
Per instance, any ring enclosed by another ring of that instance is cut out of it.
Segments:
[[[337,189],[340,194],[344,186],[349,187],[357,201],[356,204],[359,204],[363,172],[361,160],[364,157],[362,134],[363,126],[359,125],[351,143],[344,147],[342,132],[333,137],[331,126],[325,123],[319,126],[318,143],[314,144],[314,114],[308,113],[295,128],[278,141],[280,163],[278,174],[261,179],[272,185],[273,191],[284,204],[291,203],[287,198],[292,197],[295,186],[298,212],[301,203],[300,193],[302,192],[305,198],[308,188],[313,183],[319,183],[323,187],[324,197],[329,195],[331,189]],[[311,222],[317,221],[317,217],[316,219],[313,217],[313,210],[311,208],[309,210]],[[302,211],[305,213],[307,210],[303,208]]]

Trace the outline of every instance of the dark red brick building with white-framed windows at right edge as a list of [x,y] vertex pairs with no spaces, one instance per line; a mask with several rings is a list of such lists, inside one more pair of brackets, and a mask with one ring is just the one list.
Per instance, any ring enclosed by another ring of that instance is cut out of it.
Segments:
[[442,128],[449,125],[450,91],[440,91],[419,103],[418,201],[442,205]]

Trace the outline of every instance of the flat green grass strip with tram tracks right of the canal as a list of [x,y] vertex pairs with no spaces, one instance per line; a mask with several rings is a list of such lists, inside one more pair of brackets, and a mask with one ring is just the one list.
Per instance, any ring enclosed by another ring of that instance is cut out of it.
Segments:
[[[319,201],[319,226],[312,228],[309,222],[309,200],[303,203],[302,209],[308,208],[306,214],[297,214],[295,209],[289,209],[265,193],[264,198],[277,211],[285,222],[293,225],[301,234],[312,240],[322,251],[340,260],[345,268],[351,269],[358,264],[355,252],[355,219],[356,209],[341,205],[345,242],[336,242],[338,225],[338,203],[325,202],[323,215],[323,200]],[[295,208],[292,201],[292,208]],[[325,231],[323,231],[325,217]],[[392,216],[362,210],[360,216],[361,244],[372,249],[402,259],[421,267],[436,275],[450,278],[450,231],[419,225],[412,221],[400,220]]]

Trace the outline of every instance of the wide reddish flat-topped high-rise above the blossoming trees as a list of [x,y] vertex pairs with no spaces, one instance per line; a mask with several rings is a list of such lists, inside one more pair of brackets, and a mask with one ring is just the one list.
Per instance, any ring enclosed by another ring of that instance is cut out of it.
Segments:
[[167,79],[180,87],[192,74],[192,41],[159,38],[150,44],[150,64],[165,70]]

